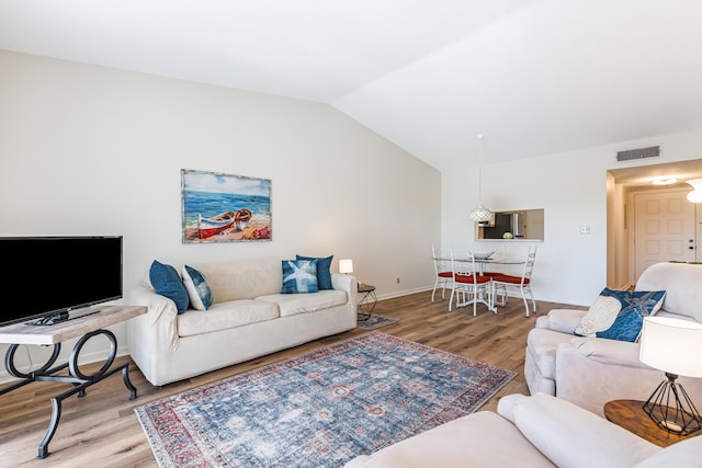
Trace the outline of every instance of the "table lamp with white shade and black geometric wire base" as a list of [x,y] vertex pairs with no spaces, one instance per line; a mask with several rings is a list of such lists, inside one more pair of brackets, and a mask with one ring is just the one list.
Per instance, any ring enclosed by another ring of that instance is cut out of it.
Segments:
[[702,416],[678,376],[702,377],[702,324],[667,317],[646,317],[638,358],[666,373],[667,380],[654,390],[644,411],[658,425],[688,435],[702,427]]

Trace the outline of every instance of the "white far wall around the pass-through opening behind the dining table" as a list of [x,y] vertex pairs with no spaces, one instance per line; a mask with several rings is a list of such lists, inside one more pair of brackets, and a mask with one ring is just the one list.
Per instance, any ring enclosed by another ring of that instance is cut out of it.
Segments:
[[[661,145],[661,156],[616,161],[616,151]],[[607,286],[607,171],[699,159],[702,129],[661,135],[508,163],[483,157],[483,202],[492,210],[544,208],[544,241],[537,243],[532,289],[536,299],[588,306]],[[443,174],[442,243],[473,243],[468,213],[477,205],[477,172],[469,165]],[[590,235],[580,235],[589,226]],[[524,251],[523,242],[512,244]]]

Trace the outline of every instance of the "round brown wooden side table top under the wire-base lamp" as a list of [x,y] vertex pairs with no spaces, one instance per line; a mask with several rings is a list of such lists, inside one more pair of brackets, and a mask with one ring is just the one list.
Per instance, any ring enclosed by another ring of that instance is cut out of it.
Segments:
[[658,427],[644,411],[645,401],[612,400],[604,403],[604,418],[646,441],[667,447],[698,434],[678,435]]

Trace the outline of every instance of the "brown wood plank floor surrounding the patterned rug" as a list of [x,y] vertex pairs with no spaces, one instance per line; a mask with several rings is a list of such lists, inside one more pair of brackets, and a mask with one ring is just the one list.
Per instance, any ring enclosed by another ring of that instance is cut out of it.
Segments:
[[[522,372],[526,333],[533,328],[536,317],[556,307],[577,308],[539,301],[536,313],[532,312],[526,318],[521,299],[510,298],[507,307],[500,307],[497,315],[480,306],[477,317],[473,317],[472,308],[449,312],[448,299],[431,303],[431,292],[428,292],[378,301],[375,313],[399,319],[377,331],[516,370],[518,376],[480,408],[479,411],[484,411],[495,410],[503,395],[528,393]],[[120,375],[89,388],[84,398],[68,398],[64,401],[58,430],[48,446],[50,455],[43,460],[36,459],[36,455],[50,419],[50,398],[68,387],[55,383],[30,384],[0,396],[0,467],[156,468],[134,408],[362,333],[367,331],[356,328],[163,387],[148,384],[132,363],[129,376],[138,389],[138,398],[128,399],[129,392]],[[131,359],[124,356],[115,361],[124,362]]]

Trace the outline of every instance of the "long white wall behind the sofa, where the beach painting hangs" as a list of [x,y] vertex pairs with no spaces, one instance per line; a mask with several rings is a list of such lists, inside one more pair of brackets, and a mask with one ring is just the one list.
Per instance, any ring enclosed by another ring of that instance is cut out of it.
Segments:
[[[271,179],[273,240],[181,243],[181,169]],[[0,236],[124,236],[126,304],[154,259],[333,254],[380,297],[426,288],[440,184],[328,105],[0,52]]]

